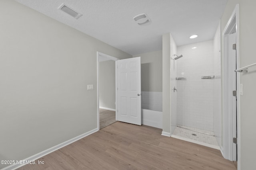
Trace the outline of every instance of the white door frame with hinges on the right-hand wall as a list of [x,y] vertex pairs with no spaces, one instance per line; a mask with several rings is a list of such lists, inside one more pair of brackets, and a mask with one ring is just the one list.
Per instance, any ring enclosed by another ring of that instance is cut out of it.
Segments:
[[[230,73],[228,72],[228,57],[226,56],[227,53],[227,45],[228,43],[228,35],[236,32],[236,68],[239,67],[239,11],[238,11],[238,4],[236,5],[232,15],[224,28],[222,33],[223,37],[223,49],[224,55],[222,56],[222,115],[223,115],[223,148],[221,147],[222,154],[224,158],[233,160],[233,147],[232,147],[232,139],[233,139],[233,131],[232,128],[234,125],[234,119],[232,119],[232,113],[230,113],[230,92],[232,89],[228,86],[228,81],[230,81],[230,77],[227,75]],[[238,162],[238,170],[240,170],[240,75],[236,75],[236,87],[237,87],[237,162]],[[225,114],[226,113],[226,114]],[[229,114],[228,114],[229,113]]]

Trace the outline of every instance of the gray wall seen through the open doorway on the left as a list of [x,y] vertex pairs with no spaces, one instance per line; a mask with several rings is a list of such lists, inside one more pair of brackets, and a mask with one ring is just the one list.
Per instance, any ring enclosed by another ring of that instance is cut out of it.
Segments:
[[100,107],[116,109],[116,69],[115,61],[102,61],[99,64]]

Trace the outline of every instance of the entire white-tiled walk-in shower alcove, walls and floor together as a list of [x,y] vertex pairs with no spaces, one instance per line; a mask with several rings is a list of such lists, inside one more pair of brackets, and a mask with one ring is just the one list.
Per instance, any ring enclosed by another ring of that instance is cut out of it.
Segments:
[[221,122],[214,117],[220,108],[220,57],[214,42],[179,46],[177,54],[183,57],[171,59],[170,131],[172,137],[219,149],[221,133],[214,127]]

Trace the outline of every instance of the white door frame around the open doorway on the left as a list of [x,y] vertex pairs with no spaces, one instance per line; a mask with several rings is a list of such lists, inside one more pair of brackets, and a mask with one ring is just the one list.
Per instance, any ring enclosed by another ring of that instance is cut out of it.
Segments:
[[[99,67],[99,63],[100,63],[100,61],[99,61],[99,57],[106,58],[106,61],[113,60],[113,61],[115,61],[115,63],[116,63],[116,61],[119,60],[116,57],[112,57],[110,55],[100,53],[97,51],[97,129],[98,129],[98,131],[100,130],[100,110],[99,110],[99,107],[100,107],[100,97],[99,97],[99,95],[100,95],[99,94],[99,71],[100,71],[99,69],[100,69],[100,67]],[[117,64],[115,66],[115,70],[116,70],[115,76],[116,76],[116,87],[117,87]],[[117,88],[115,88],[115,89],[116,89],[116,101],[117,101]],[[117,120],[117,104],[116,104],[116,120]]]

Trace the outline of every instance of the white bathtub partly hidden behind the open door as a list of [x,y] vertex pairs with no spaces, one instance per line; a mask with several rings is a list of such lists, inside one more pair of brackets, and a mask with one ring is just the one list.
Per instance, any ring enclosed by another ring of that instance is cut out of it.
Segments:
[[142,125],[163,128],[163,112],[148,109],[141,109]]

